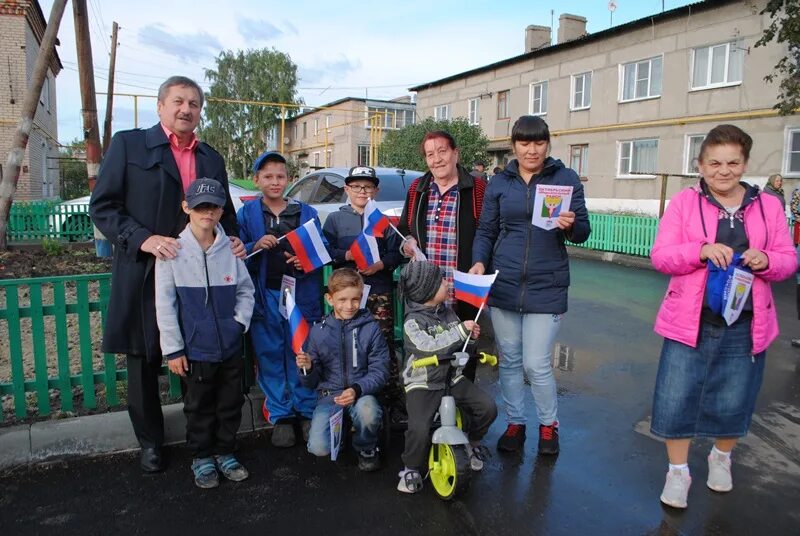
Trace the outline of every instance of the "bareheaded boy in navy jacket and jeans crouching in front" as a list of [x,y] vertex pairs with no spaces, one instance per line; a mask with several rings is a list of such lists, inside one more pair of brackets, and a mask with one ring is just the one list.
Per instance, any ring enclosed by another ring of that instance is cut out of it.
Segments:
[[296,356],[300,381],[317,390],[308,451],[331,452],[330,417],[344,408],[353,422],[358,468],[376,471],[382,410],[376,395],[389,376],[389,351],[380,326],[361,309],[364,281],[355,270],[340,268],[328,279],[325,300],[333,312],[311,328],[307,352]]

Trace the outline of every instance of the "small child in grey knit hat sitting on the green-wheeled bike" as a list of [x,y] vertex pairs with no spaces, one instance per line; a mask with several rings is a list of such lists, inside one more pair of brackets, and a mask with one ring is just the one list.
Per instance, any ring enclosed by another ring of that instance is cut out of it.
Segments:
[[[479,326],[472,320],[461,322],[455,311],[445,305],[448,296],[447,282],[442,270],[427,261],[407,264],[400,273],[400,292],[406,300],[403,322],[403,339],[408,352],[408,362],[403,370],[408,411],[403,462],[397,489],[404,493],[416,493],[422,489],[423,466],[428,458],[433,418],[439,409],[444,394],[444,382],[450,361],[436,367],[413,369],[411,364],[420,358],[432,355],[452,354],[461,350],[464,341],[475,339]],[[458,407],[468,415],[470,422],[467,446],[470,467],[473,471],[483,468],[486,447],[480,444],[489,426],[497,417],[497,406],[469,379],[454,371],[450,382],[450,394]]]

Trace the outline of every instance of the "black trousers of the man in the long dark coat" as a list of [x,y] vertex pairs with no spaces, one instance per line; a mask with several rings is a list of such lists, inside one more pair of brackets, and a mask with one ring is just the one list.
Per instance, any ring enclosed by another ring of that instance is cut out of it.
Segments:
[[128,416],[133,433],[142,448],[160,448],[164,444],[164,415],[158,392],[160,362],[143,355],[127,356]]

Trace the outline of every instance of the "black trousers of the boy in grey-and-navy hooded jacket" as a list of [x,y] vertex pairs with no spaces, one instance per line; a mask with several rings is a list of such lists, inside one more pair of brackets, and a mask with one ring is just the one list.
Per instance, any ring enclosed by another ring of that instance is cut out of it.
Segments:
[[231,454],[242,422],[244,359],[189,361],[184,380],[186,446],[195,458]]

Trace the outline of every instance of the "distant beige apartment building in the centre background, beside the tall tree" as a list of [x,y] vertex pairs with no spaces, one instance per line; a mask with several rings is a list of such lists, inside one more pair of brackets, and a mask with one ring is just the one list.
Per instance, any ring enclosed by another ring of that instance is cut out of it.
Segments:
[[339,99],[287,121],[284,151],[300,162],[301,175],[326,167],[378,166],[377,146],[386,132],[413,124],[415,113],[408,96]]

